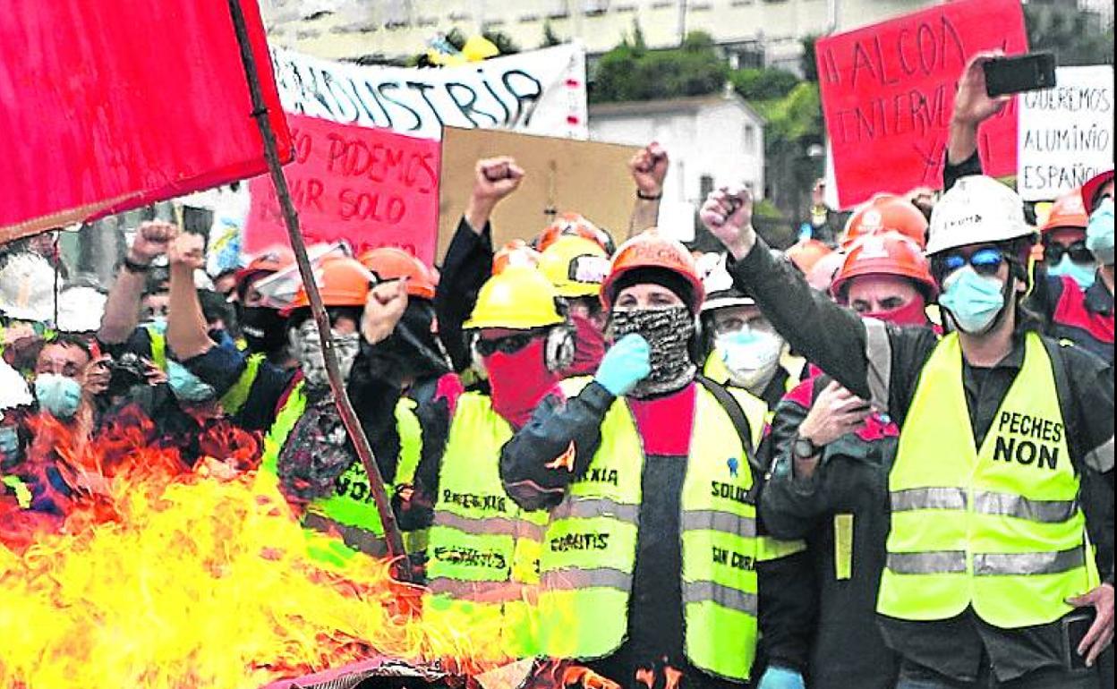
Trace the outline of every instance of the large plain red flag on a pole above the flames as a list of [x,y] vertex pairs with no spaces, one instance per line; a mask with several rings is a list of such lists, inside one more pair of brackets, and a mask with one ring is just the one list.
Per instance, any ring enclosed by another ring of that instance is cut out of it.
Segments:
[[[279,153],[255,0],[240,0]],[[0,242],[259,174],[227,2],[12,0],[0,12]]]

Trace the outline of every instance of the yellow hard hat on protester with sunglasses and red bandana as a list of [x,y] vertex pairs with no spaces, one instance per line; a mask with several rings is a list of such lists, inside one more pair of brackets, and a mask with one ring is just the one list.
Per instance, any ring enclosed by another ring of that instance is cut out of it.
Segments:
[[557,298],[554,286],[536,268],[508,266],[481,286],[462,327],[527,331],[558,325],[565,318],[558,313]]

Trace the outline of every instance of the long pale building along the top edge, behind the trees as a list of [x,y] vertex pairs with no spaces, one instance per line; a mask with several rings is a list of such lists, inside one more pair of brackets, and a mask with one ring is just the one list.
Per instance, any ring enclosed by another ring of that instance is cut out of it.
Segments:
[[[605,52],[639,23],[648,47],[709,32],[744,66],[798,70],[800,39],[844,31],[933,4],[934,0],[261,0],[269,39],[331,59],[399,58],[459,29],[502,31],[524,50],[544,29]],[[762,64],[757,64],[763,61]]]

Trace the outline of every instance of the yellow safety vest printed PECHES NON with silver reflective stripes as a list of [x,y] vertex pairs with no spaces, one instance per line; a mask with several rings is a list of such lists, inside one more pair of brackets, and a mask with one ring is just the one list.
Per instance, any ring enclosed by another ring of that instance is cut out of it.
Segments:
[[1097,585],[1051,358],[1028,334],[1024,362],[975,448],[962,348],[944,337],[919,375],[889,476],[891,532],[878,611],[1002,629],[1046,624]]

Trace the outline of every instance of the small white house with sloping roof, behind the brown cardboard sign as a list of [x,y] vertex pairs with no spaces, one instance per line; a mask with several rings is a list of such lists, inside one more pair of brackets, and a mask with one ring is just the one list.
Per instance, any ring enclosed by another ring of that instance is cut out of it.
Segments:
[[691,238],[694,211],[712,189],[764,193],[764,118],[735,93],[591,105],[590,137],[667,149],[660,226],[678,228],[679,239]]

